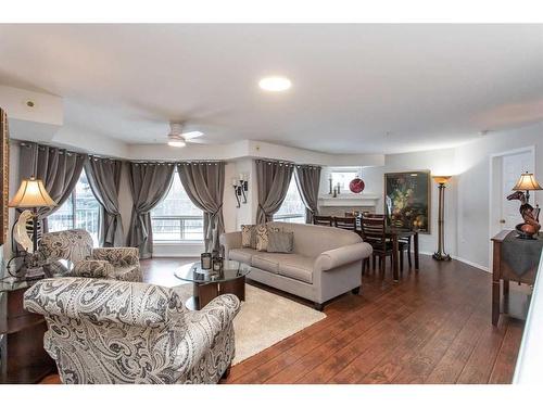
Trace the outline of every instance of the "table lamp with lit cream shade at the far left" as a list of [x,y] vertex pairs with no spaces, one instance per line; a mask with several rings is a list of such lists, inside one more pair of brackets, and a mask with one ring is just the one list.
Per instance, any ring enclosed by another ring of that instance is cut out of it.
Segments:
[[9,202],[10,207],[26,207],[33,212],[33,249],[38,250],[38,208],[56,206],[56,202],[49,195],[41,179],[34,177],[21,181],[15,196]]

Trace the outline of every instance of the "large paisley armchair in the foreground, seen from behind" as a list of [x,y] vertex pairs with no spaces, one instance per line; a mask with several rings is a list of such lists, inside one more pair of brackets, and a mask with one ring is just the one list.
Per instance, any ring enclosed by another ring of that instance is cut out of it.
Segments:
[[217,383],[235,356],[235,295],[189,311],[171,289],[88,278],[46,279],[24,307],[46,317],[46,351],[63,383]]

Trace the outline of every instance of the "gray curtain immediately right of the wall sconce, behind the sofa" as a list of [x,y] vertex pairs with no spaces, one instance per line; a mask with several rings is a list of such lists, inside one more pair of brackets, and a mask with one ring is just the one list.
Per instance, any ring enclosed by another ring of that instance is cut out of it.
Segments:
[[256,160],[255,164],[258,192],[256,222],[264,224],[273,220],[285,201],[294,164],[262,160]]

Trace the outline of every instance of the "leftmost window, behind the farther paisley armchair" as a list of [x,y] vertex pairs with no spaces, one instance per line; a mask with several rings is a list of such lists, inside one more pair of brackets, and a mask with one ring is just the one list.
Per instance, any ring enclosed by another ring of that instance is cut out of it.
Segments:
[[54,214],[48,216],[49,231],[85,229],[92,237],[94,246],[98,246],[100,211],[100,203],[90,189],[87,174],[83,170],[70,198]]

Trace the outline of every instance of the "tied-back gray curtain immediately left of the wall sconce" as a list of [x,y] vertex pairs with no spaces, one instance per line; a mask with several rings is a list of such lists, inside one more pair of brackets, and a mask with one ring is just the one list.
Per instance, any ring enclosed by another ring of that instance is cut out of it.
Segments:
[[225,231],[225,163],[180,163],[177,171],[190,200],[204,213],[205,251],[219,251],[218,237]]

